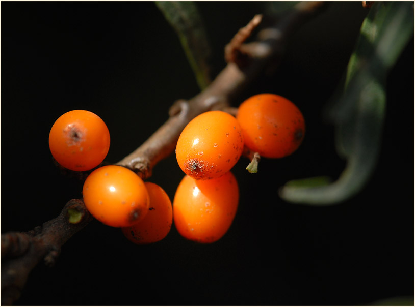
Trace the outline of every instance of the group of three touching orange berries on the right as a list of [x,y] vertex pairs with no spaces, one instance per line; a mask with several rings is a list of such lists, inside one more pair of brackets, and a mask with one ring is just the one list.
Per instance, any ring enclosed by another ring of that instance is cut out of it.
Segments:
[[173,200],[177,231],[202,243],[220,239],[238,207],[238,182],[230,169],[244,148],[266,158],[286,157],[298,148],[304,132],[297,106],[274,94],[245,100],[236,117],[209,111],[191,120],[176,147],[177,162],[186,173]]

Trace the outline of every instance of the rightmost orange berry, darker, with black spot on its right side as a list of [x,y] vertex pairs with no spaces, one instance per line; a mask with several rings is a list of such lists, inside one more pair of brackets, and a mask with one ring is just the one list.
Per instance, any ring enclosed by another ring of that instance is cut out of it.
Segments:
[[287,98],[259,94],[238,108],[245,146],[265,158],[291,155],[300,146],[305,133],[301,111]]

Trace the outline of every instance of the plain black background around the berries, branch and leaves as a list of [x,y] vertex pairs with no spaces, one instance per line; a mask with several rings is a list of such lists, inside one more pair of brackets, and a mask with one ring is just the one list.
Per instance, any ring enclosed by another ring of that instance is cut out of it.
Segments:
[[[261,2],[199,2],[212,45],[223,48]],[[93,221],[62,248],[54,268],[38,265],[20,305],[353,305],[413,295],[413,41],[388,78],[378,167],[365,189],[331,207],[286,203],[290,179],[339,176],[324,106],[339,88],[359,27],[360,2],[331,3],[293,38],[273,76],[246,88],[276,93],[302,110],[307,132],[292,156],[263,159],[248,174],[228,233],[213,244],[174,228],[137,246]],[[87,109],[111,133],[106,161],[132,152],[168,118],[169,106],[199,89],[174,30],[151,2],[2,3],[2,233],[53,219],[82,182],[61,174],[48,133],[64,112]],[[183,177],[174,155],[150,181],[171,200]]]

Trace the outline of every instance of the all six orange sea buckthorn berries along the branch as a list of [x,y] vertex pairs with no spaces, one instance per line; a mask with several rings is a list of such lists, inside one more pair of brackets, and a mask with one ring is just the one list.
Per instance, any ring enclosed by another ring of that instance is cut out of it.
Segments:
[[[266,158],[286,157],[301,144],[304,132],[304,118],[291,101],[274,94],[255,95],[239,106],[236,117],[205,112],[181,132],[176,158],[186,175],[173,205],[161,187],[117,165],[99,167],[87,177],[84,203],[97,220],[120,227],[137,244],[163,239],[173,221],[183,237],[215,242],[235,218],[239,188],[230,169],[244,148]],[[109,146],[107,126],[89,111],[65,113],[49,134],[52,155],[70,170],[98,166]]]

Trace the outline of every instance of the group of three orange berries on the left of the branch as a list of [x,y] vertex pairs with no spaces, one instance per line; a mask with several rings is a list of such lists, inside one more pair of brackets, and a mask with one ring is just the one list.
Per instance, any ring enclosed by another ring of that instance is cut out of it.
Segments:
[[[91,170],[107,156],[110,133],[96,114],[74,110],[56,120],[50,130],[49,148],[61,166],[74,171]],[[157,242],[170,231],[173,213],[167,193],[125,167],[107,165],[95,169],[85,180],[82,194],[94,218],[120,227],[135,243]]]

